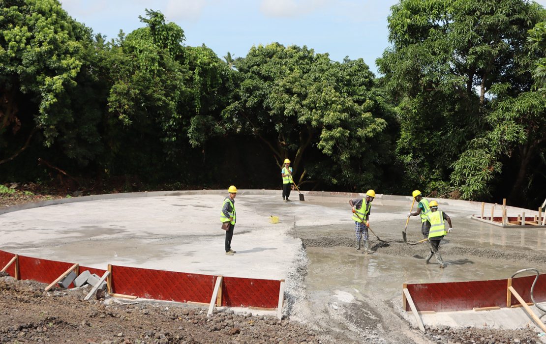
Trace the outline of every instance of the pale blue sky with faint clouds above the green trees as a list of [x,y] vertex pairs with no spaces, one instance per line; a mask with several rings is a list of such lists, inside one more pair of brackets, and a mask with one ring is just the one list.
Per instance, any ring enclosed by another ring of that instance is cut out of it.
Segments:
[[[342,61],[375,59],[389,46],[387,16],[397,0],[61,0],[74,19],[115,38],[144,26],[145,9],[161,11],[185,32],[186,45],[205,44],[219,57],[244,57],[253,45],[306,45]],[[546,5],[546,0],[538,3]]]

